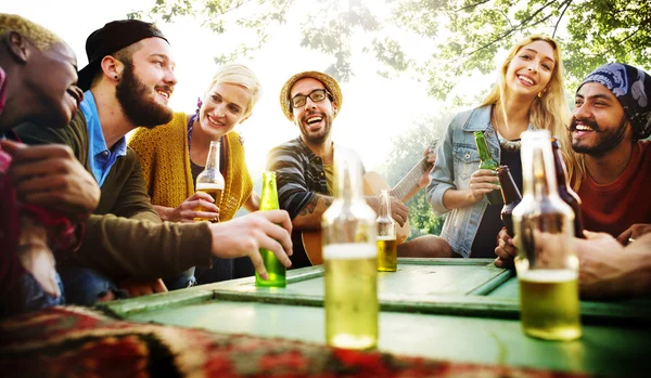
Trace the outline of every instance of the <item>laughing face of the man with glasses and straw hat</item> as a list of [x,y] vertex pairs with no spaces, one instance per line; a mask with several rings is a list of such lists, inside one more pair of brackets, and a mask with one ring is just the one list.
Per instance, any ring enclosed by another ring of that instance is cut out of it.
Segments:
[[[290,99],[296,95],[309,95],[317,89],[326,89],[326,86],[312,78],[301,79],[292,87]],[[335,112],[336,102],[332,102],[330,96],[319,102],[307,97],[305,105],[292,109],[292,120],[301,129],[305,142],[322,144],[330,136]]]

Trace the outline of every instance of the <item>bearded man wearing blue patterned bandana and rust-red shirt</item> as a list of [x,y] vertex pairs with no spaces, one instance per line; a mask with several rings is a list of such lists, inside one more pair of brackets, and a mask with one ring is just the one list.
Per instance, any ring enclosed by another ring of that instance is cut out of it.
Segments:
[[586,230],[627,244],[651,231],[651,77],[618,63],[578,87],[570,125]]

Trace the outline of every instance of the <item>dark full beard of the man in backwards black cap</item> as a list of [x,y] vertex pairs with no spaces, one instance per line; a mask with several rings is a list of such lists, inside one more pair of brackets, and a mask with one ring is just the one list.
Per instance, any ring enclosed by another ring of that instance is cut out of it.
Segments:
[[[171,93],[171,88],[166,88]],[[122,80],[115,87],[115,96],[125,116],[137,126],[153,128],[165,125],[174,117],[174,112],[150,97],[151,91],[136,77],[133,65],[125,62]]]

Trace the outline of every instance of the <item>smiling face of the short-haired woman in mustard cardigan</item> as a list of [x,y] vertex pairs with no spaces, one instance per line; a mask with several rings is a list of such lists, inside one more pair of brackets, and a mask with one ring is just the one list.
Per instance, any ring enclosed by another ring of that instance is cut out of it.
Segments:
[[251,92],[242,86],[224,82],[214,84],[204,96],[199,113],[201,130],[212,139],[231,131],[248,118],[244,115],[248,113],[251,97]]

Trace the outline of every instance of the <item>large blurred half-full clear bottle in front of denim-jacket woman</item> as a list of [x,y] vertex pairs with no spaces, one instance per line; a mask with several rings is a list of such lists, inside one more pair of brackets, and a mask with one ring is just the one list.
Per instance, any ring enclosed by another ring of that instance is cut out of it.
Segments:
[[559,197],[549,138],[522,133],[524,195],[513,209],[520,315],[528,336],[572,340],[582,333],[574,212]]

